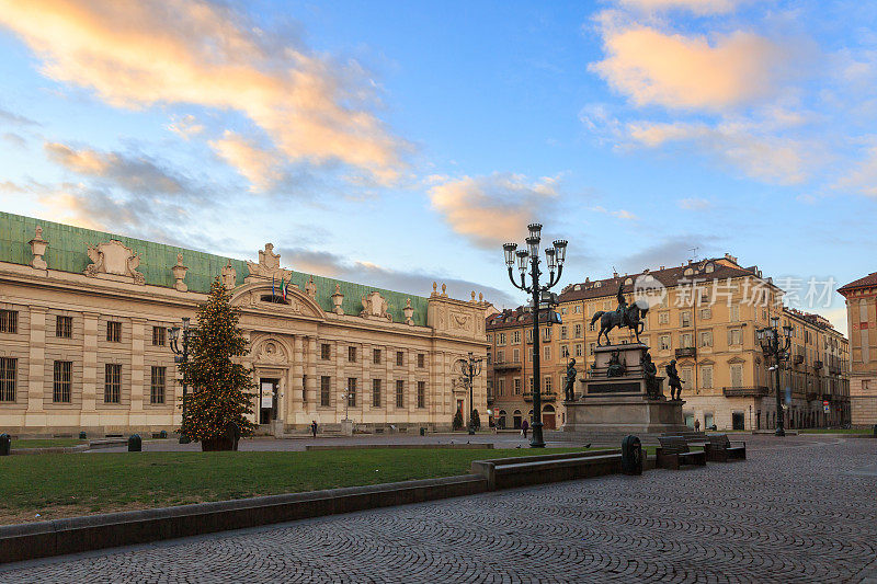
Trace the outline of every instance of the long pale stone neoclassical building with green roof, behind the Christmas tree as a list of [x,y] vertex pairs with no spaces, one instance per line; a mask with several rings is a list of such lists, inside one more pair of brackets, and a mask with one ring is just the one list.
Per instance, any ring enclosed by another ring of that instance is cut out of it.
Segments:
[[[468,410],[455,364],[486,355],[490,308],[475,293],[456,300],[434,284],[420,297],[303,274],[270,243],[243,262],[0,213],[0,432],[176,428],[168,329],[194,324],[216,276],[250,341],[260,432],[344,419],[445,428]],[[474,385],[482,412],[485,377]]]

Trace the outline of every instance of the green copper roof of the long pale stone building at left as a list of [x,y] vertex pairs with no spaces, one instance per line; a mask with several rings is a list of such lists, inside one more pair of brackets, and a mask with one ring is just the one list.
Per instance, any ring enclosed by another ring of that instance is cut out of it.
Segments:
[[[43,239],[48,241],[48,250],[44,259],[49,270],[82,274],[86,271],[86,266],[91,263],[88,256],[89,245],[98,245],[115,239],[133,249],[135,253],[140,254],[140,266],[137,271],[146,277],[146,283],[151,286],[173,287],[174,279],[171,266],[176,264],[178,253],[183,254],[183,264],[189,266],[184,282],[192,291],[207,293],[213,279],[228,264],[231,264],[231,267],[237,272],[238,285],[243,284],[243,278],[250,273],[247,263],[241,260],[2,211],[0,211],[0,262],[30,265],[33,255],[27,242],[34,238],[37,226],[43,228]],[[255,257],[253,260],[255,261]],[[293,284],[298,285],[301,290],[305,289],[305,283],[309,278],[310,274],[293,272]],[[341,286],[341,294],[344,295],[342,308],[345,314],[358,314],[363,309],[362,297],[377,290],[387,299],[389,305],[388,312],[392,316],[394,322],[405,322],[402,309],[405,308],[406,299],[410,298],[411,307],[414,309],[412,317],[414,324],[421,327],[426,324],[428,300],[422,296],[352,284],[317,275],[314,275],[314,284],[317,286],[317,304],[327,312],[332,311],[331,296],[335,291],[335,284],[338,284]],[[277,282],[277,285],[280,285],[280,282]]]

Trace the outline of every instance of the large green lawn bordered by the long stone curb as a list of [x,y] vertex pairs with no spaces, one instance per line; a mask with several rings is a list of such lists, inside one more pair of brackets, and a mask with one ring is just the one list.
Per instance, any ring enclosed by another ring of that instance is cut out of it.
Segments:
[[472,460],[577,450],[582,449],[9,456],[0,458],[0,525],[451,477],[468,473]]

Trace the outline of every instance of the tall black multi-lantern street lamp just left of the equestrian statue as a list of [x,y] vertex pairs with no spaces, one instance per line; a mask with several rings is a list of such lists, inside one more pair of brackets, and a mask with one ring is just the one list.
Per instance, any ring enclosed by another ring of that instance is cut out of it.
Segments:
[[[539,286],[539,241],[542,240],[542,225],[531,224],[527,226],[529,237],[526,238],[526,249],[519,250],[517,243],[505,243],[502,250],[505,254],[505,265],[509,267],[509,279],[512,285],[533,295],[533,440],[529,443],[532,448],[545,448],[545,440],[542,434],[542,393],[540,393],[540,368],[539,368],[539,302],[543,293],[547,293],[560,280],[563,273],[563,262],[567,259],[567,240],[559,239],[554,242],[554,248],[545,250],[545,259],[548,264],[548,284]],[[517,270],[521,272],[521,283],[515,282],[514,267],[517,260]],[[529,286],[526,285],[527,265],[529,266]],[[557,278],[555,278],[557,270]]]

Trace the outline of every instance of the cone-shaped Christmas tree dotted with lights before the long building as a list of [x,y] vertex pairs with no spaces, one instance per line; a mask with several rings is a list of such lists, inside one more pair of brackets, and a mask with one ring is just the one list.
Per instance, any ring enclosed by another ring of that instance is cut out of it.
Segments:
[[191,388],[180,432],[201,440],[205,450],[230,449],[237,440],[229,440],[229,436],[236,432],[247,436],[254,427],[247,419],[255,397],[248,391],[255,387],[252,370],[235,363],[235,357],[247,355],[249,347],[238,328],[240,316],[229,299],[217,277],[209,298],[198,308],[197,325],[189,341],[190,359],[180,364],[183,382]]

